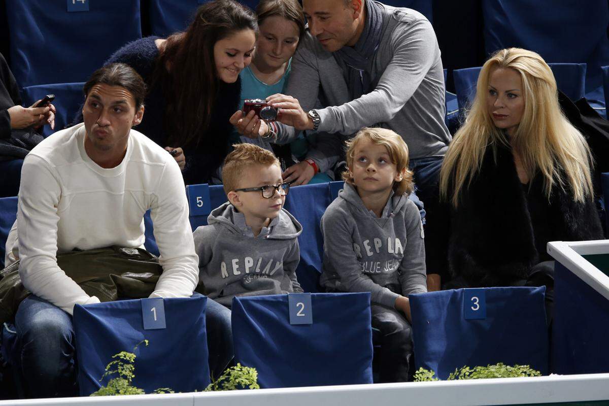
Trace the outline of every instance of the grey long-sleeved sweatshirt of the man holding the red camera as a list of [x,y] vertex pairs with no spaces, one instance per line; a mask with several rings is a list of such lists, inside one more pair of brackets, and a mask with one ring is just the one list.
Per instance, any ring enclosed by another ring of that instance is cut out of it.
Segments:
[[[370,93],[351,100],[346,67],[309,32],[292,60],[286,94],[298,99],[305,111],[315,108],[318,99],[329,106],[316,109],[321,118],[318,131],[336,134],[320,134],[309,153],[322,171],[336,163],[345,135],[362,127],[376,125],[400,134],[412,159],[443,156],[451,141],[444,122],[444,72],[433,27],[415,10],[382,7],[382,39],[370,62],[374,86]],[[295,133],[293,127],[280,125],[280,139]]]

